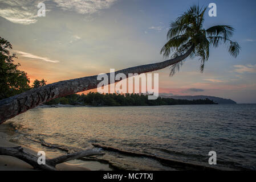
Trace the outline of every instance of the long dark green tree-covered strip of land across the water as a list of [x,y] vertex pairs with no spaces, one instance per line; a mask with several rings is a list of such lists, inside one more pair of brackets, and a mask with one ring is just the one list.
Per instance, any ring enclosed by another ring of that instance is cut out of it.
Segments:
[[90,106],[158,106],[158,105],[194,105],[194,104],[216,104],[206,98],[205,100],[176,100],[173,98],[157,98],[148,100],[148,96],[142,94],[100,94],[90,92],[88,94],[72,94],[71,96],[56,98],[46,103],[90,105]]

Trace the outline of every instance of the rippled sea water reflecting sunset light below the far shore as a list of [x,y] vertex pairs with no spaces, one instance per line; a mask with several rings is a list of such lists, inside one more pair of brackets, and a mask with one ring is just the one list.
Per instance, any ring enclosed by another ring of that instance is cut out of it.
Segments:
[[[71,149],[97,143],[209,167],[208,152],[216,151],[216,168],[256,169],[254,104],[40,108],[9,123],[16,129],[12,140],[49,155],[64,152],[40,143]],[[176,169],[151,158],[104,152],[96,159],[112,167]]]

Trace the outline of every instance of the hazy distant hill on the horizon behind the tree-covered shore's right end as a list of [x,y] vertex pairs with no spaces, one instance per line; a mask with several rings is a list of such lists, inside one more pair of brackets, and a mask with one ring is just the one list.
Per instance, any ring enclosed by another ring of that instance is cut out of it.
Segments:
[[212,100],[218,104],[237,104],[237,102],[227,99],[227,98],[221,98],[221,97],[214,97],[214,96],[166,96],[165,94],[160,94],[160,97],[163,98],[174,98],[174,99],[182,99],[182,100],[198,100],[202,99],[205,100],[205,98],[209,98],[209,100]]

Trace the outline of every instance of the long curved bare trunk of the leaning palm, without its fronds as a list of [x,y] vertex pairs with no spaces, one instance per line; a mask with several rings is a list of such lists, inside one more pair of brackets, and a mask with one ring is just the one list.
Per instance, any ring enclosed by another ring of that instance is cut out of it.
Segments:
[[[193,47],[184,53],[184,55],[178,56],[174,59],[166,60],[160,63],[146,64],[122,69],[120,71],[116,71],[115,75],[118,73],[124,73],[128,77],[128,73],[138,73],[140,75],[141,73],[156,71],[184,60],[190,55],[192,51]],[[18,114],[24,113],[25,111],[48,102],[54,98],[68,96],[70,94],[83,92],[85,90],[95,89],[97,88],[97,84],[99,84],[99,82],[100,81],[97,80],[97,75],[59,81],[53,84],[42,86],[40,88],[29,90],[27,92],[18,94],[17,96],[1,100],[0,124],[5,122],[7,119],[13,118]],[[109,80],[108,83],[110,83]]]

